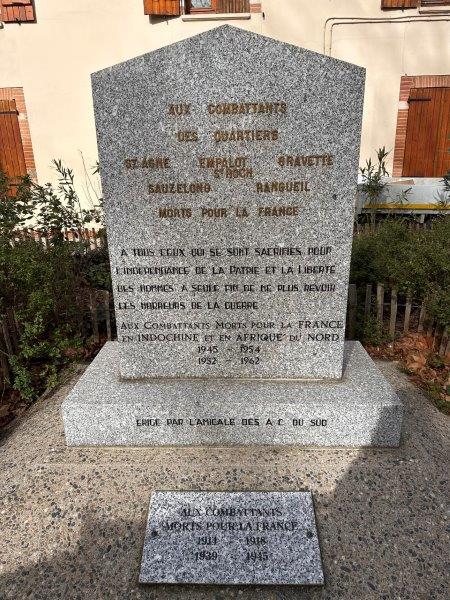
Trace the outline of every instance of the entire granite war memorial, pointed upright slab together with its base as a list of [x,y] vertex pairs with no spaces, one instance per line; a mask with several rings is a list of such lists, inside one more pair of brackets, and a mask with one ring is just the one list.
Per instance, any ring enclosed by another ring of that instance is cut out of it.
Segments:
[[364,70],[223,26],[92,86],[118,339],[67,443],[398,445],[344,341]]

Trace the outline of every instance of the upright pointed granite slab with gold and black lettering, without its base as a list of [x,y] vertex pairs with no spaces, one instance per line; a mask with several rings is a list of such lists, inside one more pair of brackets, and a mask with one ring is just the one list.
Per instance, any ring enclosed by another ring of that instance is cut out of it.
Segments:
[[341,377],[363,80],[228,26],[93,75],[122,377]]

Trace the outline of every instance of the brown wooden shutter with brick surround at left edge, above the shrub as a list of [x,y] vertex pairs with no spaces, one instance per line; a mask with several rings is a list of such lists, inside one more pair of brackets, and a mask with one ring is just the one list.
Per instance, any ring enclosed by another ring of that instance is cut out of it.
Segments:
[[0,170],[13,183],[26,174],[36,179],[22,88],[0,88]]

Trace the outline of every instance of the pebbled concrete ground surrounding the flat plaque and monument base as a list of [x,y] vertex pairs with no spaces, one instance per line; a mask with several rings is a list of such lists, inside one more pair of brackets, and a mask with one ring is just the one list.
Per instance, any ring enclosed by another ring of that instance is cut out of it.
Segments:
[[[72,378],[3,439],[0,598],[448,598],[447,419],[395,366],[380,368],[406,408],[396,450],[68,449],[58,410]],[[139,585],[154,489],[312,490],[325,587]]]

